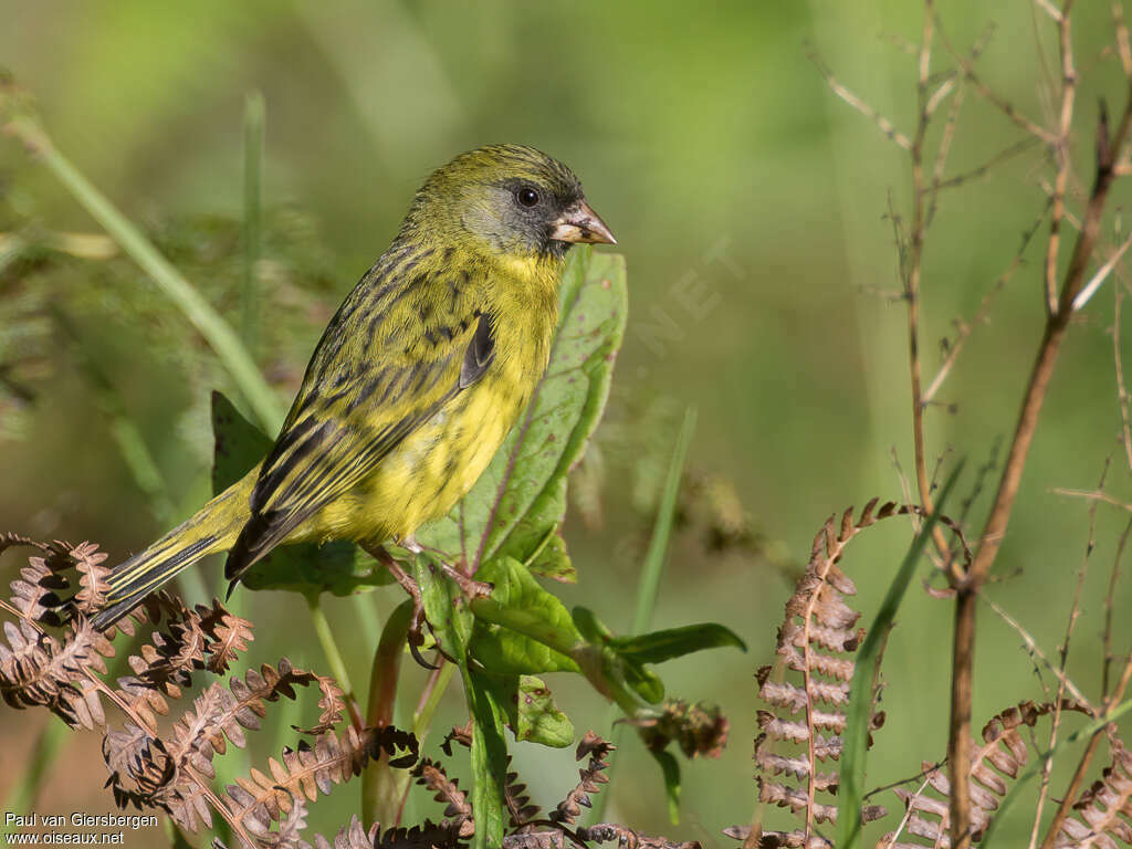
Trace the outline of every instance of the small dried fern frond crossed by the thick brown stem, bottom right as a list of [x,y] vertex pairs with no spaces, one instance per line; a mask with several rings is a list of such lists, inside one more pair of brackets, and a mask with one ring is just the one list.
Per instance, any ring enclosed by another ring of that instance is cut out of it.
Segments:
[[[1053,713],[1055,709],[1056,705],[1050,702],[1040,704],[1022,702],[996,714],[983,727],[983,745],[971,747],[970,792],[974,840],[979,840],[1006,796],[1009,789],[1006,780],[1017,779],[1029,760],[1029,749],[1020,729],[1034,728],[1040,718]],[[1087,713],[1082,705],[1071,701],[1063,701],[1061,710]],[[908,809],[904,831],[908,835],[927,842],[891,842],[895,841],[899,834],[890,832],[882,838],[882,844],[887,846],[889,842],[884,841],[890,841],[893,849],[916,849],[925,844],[946,849],[951,846],[951,839],[947,837],[951,783],[947,781],[946,772],[938,765],[925,763],[924,770],[928,784],[924,792],[914,794],[898,788],[895,794]],[[1078,846],[1078,843],[1065,846]]]

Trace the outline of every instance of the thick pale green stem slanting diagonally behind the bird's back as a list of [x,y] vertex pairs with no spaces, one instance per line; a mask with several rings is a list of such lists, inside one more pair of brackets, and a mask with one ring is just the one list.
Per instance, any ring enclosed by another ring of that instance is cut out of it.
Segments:
[[231,325],[162,256],[153,242],[54,147],[38,121],[28,115],[19,115],[12,118],[6,129],[35,153],[75,199],[185,314],[216,352],[260,424],[268,432],[278,430],[283,421],[283,408]]

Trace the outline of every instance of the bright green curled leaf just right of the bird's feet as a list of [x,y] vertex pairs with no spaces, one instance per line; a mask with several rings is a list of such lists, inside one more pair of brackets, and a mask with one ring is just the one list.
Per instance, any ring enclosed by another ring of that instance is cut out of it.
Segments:
[[[550,648],[568,646],[582,641],[563,603],[543,590],[522,564],[509,557],[491,560],[477,575],[495,584],[491,601],[506,608],[508,617],[522,620],[526,634],[540,634],[541,640],[478,618],[472,638],[472,653],[490,672],[535,674],[580,671],[569,657]],[[474,609],[482,610],[477,602]]]

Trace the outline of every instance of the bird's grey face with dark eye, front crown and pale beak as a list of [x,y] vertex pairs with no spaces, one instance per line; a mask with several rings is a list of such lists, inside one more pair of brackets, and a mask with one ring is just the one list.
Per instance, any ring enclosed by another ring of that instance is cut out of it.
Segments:
[[505,147],[492,160],[469,172],[462,216],[490,251],[561,257],[576,242],[616,243],[565,165],[533,148]]

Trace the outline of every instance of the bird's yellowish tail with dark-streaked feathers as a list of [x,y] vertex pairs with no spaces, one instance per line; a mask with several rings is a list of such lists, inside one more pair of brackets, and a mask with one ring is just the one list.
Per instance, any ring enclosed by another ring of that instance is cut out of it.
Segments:
[[201,557],[230,549],[250,516],[248,496],[257,473],[252,469],[144,551],[115,566],[108,577],[106,607],[94,615],[94,626],[109,628]]

